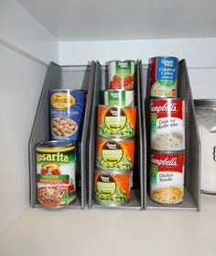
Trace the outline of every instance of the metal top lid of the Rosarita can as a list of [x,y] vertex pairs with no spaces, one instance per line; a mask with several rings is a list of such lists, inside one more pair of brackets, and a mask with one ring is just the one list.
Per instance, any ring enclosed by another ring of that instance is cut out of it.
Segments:
[[49,141],[43,141],[38,142],[36,145],[37,150],[60,150],[65,149],[73,150],[75,146],[75,142],[73,141],[59,141],[59,140],[49,140]]

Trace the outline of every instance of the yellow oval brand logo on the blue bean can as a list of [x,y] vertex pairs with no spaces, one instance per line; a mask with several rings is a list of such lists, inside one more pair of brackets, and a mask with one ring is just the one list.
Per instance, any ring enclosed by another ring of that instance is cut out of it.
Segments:
[[75,98],[66,93],[56,93],[51,96],[50,103],[55,108],[65,109],[75,104]]

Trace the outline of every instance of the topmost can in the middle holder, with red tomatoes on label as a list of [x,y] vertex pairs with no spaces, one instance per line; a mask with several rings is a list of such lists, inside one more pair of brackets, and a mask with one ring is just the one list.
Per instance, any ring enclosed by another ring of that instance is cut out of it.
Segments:
[[110,89],[134,88],[135,61],[109,61],[108,73]]

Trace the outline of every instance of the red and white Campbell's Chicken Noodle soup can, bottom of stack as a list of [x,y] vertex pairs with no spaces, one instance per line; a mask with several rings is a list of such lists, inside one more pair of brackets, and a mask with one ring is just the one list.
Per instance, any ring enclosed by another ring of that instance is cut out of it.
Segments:
[[150,198],[161,204],[178,204],[184,196],[185,152],[151,150]]

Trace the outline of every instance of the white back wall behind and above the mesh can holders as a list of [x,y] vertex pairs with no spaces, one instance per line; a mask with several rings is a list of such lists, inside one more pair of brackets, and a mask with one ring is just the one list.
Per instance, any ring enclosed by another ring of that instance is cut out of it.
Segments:
[[148,59],[158,55],[186,59],[194,98],[216,98],[216,38],[59,42],[61,65],[90,60]]

